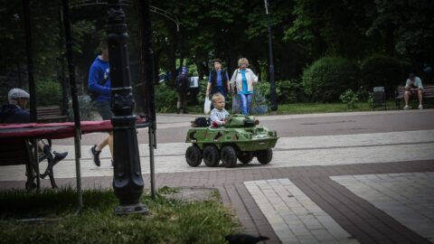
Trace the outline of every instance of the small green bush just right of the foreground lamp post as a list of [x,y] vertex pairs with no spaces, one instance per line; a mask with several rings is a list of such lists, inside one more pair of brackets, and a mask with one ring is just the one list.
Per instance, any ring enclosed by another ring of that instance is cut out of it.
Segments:
[[175,112],[177,100],[175,89],[169,88],[165,83],[156,86],[156,112]]

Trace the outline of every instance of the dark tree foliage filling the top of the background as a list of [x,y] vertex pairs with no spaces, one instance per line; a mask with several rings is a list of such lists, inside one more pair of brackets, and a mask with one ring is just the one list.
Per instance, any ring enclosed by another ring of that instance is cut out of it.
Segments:
[[[37,80],[61,80],[64,59],[61,1],[30,1],[33,54]],[[78,83],[87,85],[90,63],[105,35],[107,5],[75,5],[71,1],[74,61]],[[139,80],[137,6],[124,6],[129,33],[132,78]],[[269,0],[277,80],[300,80],[303,70],[324,56],[362,63],[375,54],[413,64],[434,63],[434,1],[430,0]],[[22,1],[0,0],[0,84],[26,86]],[[260,80],[268,80],[268,18],[264,1],[151,0],[150,5],[175,15],[176,25],[151,13],[156,72],[176,73],[181,62],[193,75],[207,76],[219,58],[231,73],[246,57]],[[172,75],[175,79],[175,75]],[[172,81],[173,81],[172,80]],[[172,85],[170,82],[169,85]],[[3,90],[2,93],[5,93]]]

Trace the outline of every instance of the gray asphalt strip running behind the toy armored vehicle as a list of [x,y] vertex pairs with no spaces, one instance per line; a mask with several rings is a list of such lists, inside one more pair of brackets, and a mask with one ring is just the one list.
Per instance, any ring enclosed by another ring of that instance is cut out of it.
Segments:
[[[157,143],[184,142],[190,121],[200,115],[157,115]],[[434,129],[434,110],[374,111],[259,117],[260,125],[278,131],[278,136],[352,135],[377,132]],[[83,135],[81,145],[94,145],[103,133]],[[137,134],[139,144],[147,143],[147,129]],[[433,138],[434,139],[434,138]],[[56,140],[73,145],[72,138]]]

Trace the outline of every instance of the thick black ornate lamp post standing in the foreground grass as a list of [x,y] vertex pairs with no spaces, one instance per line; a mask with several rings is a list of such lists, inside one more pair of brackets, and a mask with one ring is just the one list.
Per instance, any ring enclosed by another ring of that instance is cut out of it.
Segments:
[[130,83],[127,51],[127,23],[120,0],[109,0],[109,43],[111,77],[111,117],[113,125],[113,188],[119,199],[115,213],[147,213],[148,209],[139,202],[144,183],[138,156],[136,117],[133,116],[135,102]]

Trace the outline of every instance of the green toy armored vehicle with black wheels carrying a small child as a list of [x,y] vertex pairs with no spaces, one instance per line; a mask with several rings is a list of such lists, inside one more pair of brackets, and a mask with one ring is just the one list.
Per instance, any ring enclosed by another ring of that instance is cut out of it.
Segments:
[[192,143],[185,152],[187,164],[196,167],[203,162],[210,167],[220,163],[231,168],[249,164],[256,156],[260,164],[269,164],[278,141],[275,130],[258,126],[251,116],[230,116],[222,127],[210,127],[208,119],[198,117],[192,122],[185,142]]

